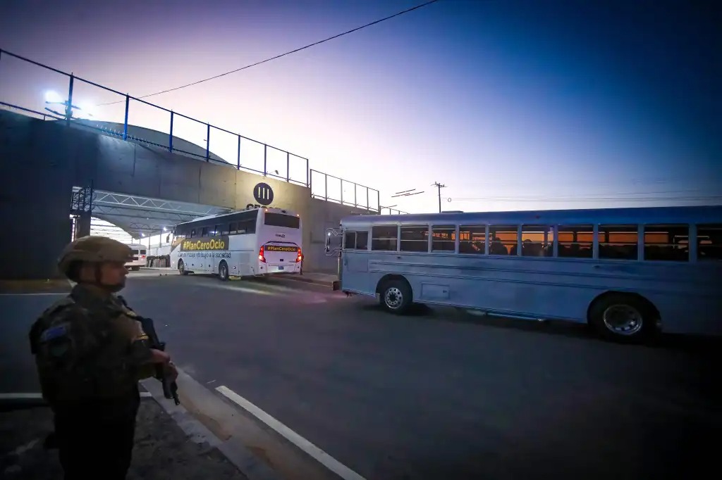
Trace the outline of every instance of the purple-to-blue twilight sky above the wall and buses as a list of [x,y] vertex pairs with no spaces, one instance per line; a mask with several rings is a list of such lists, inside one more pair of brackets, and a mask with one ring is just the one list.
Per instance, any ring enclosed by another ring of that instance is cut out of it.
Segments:
[[[5,0],[0,48],[140,96],[418,3]],[[438,208],[435,181],[449,210],[720,203],[720,16],[704,5],[441,0],[148,100],[307,156],[409,212]],[[0,61],[3,101],[42,110],[45,89],[66,84]],[[74,98],[116,99],[88,87]],[[117,106],[95,116],[122,121]],[[147,107],[132,106],[130,122],[168,130]],[[175,128],[203,144],[203,128]],[[212,151],[235,161],[227,140],[212,134]],[[388,198],[412,188],[426,193]]]

